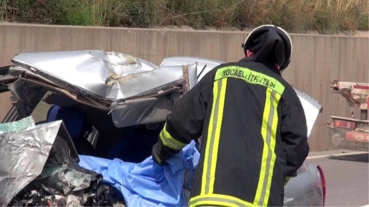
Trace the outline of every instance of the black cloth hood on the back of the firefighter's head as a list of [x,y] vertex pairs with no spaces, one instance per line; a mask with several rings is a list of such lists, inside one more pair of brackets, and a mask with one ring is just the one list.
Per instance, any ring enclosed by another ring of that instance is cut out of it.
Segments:
[[248,48],[255,62],[284,63],[284,43],[276,31],[269,30],[254,38]]

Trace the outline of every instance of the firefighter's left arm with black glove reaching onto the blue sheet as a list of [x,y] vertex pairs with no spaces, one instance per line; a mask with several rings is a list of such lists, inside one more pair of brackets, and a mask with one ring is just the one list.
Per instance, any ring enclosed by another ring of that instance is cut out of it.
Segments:
[[159,141],[152,148],[152,157],[156,163],[165,164],[167,158],[201,136],[212,90],[206,76],[174,104],[172,113],[167,116]]

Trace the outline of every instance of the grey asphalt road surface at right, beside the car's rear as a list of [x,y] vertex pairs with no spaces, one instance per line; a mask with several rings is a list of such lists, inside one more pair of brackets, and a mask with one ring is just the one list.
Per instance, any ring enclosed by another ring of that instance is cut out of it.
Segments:
[[[326,207],[369,206],[369,153],[331,151],[310,154],[307,162],[323,168]],[[332,156],[326,157],[328,154]],[[346,155],[345,155],[346,154]]]

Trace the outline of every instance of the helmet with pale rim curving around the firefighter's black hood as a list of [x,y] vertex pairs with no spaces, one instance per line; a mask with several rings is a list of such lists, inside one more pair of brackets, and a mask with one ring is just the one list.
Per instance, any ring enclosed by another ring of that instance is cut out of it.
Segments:
[[247,36],[247,38],[245,39],[245,42],[242,43],[242,48],[244,48],[244,52],[246,54],[246,50],[250,49],[250,46],[255,39],[259,38],[265,32],[268,32],[271,30],[275,31],[280,37],[280,39],[282,39],[283,41],[284,61],[283,61],[283,64],[281,64],[280,70],[279,70],[280,72],[282,72],[284,69],[287,68],[287,66],[291,62],[292,49],[293,49],[291,38],[284,29],[277,27],[275,25],[270,25],[270,24],[257,27],[254,30],[252,30],[250,34]]

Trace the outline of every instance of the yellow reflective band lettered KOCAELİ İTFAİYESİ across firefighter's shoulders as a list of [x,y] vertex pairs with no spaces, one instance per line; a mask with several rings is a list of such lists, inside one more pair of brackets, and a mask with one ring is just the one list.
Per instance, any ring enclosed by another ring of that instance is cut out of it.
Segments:
[[279,94],[283,94],[284,85],[277,81],[275,78],[267,76],[266,74],[259,73],[250,70],[245,67],[239,66],[226,66],[217,70],[214,80],[220,80],[222,78],[238,78],[251,84],[263,85],[271,88]]

